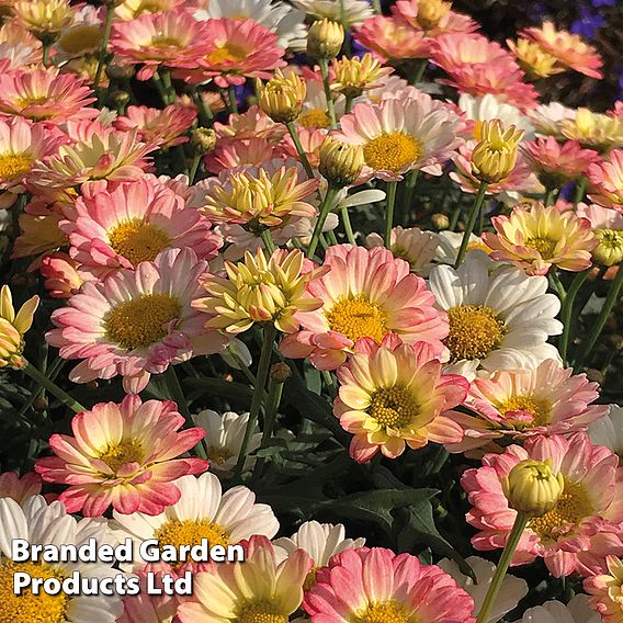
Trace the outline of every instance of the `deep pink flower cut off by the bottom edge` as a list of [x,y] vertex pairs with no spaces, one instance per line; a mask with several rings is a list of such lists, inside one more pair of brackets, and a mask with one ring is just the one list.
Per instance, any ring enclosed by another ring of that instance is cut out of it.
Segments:
[[474,601],[435,565],[382,547],[347,550],[316,575],[303,605],[318,623],[475,623]]

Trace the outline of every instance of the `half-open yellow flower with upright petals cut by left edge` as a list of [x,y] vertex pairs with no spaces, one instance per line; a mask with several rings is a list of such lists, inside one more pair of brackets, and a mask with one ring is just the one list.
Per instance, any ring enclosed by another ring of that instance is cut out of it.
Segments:
[[24,336],[33,325],[33,316],[39,297],[29,298],[18,314],[8,285],[0,290],[0,370],[2,367],[23,367]]

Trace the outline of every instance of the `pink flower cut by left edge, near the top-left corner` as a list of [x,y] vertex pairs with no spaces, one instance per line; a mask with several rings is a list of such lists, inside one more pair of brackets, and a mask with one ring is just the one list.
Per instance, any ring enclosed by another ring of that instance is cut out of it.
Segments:
[[0,112],[32,122],[59,124],[98,116],[92,91],[84,82],[58,69],[11,71],[0,76]]

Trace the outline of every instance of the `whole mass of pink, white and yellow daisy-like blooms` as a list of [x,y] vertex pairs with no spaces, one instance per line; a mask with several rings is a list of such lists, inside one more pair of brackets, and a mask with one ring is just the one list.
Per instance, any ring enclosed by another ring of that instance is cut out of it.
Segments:
[[[2,286],[0,367],[76,415],[34,473],[0,475],[0,621],[494,623],[513,610],[528,587],[508,576],[499,592],[501,562],[468,558],[474,584],[340,524],[271,541],[279,521],[246,485],[274,434],[279,398],[264,395],[301,363],[275,370],[279,353],[321,371],[352,460],[435,443],[477,461],[462,477],[474,548],[585,578],[585,596],[524,622],[621,623],[623,409],[581,371],[623,286],[623,103],[542,104],[534,84],[601,78],[596,49],[551,22],[503,46],[442,0],[386,15],[365,0],[103,4],[0,1],[2,252],[41,275],[69,381],[120,377],[125,393],[84,408],[37,370],[24,349],[39,297],[15,312]],[[366,52],[341,55],[352,45]],[[144,92],[161,106],[138,105]],[[419,174],[473,195],[463,233],[443,215],[441,233],[407,226]],[[353,207],[382,204],[384,235],[353,231]],[[575,343],[590,283],[608,296]],[[253,384],[249,412],[189,412],[175,366],[215,354]],[[139,396],[158,382],[174,401]],[[551,499],[535,508],[542,482]],[[44,483],[60,492],[42,497]],[[190,569],[190,598],[13,594],[21,570],[117,571],[15,563],[12,539],[92,536],[242,543],[247,560],[123,569]]]

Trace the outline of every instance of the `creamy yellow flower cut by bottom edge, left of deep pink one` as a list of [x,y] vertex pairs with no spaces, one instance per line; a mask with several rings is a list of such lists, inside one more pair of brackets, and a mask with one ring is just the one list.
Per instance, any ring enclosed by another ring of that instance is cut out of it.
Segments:
[[178,609],[181,623],[286,623],[303,601],[312,559],[297,550],[277,563],[272,543],[252,536],[243,563],[215,565],[194,577],[194,596]]

